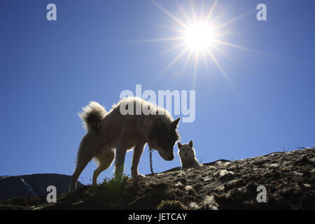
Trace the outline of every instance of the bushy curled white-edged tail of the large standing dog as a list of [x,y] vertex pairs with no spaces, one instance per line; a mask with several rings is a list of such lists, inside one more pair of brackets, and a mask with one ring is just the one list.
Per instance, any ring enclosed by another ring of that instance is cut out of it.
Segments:
[[103,106],[94,101],[83,107],[82,110],[83,112],[79,113],[78,116],[83,122],[83,127],[87,131],[96,131],[98,129],[99,123],[101,123],[103,118],[106,116],[106,110]]

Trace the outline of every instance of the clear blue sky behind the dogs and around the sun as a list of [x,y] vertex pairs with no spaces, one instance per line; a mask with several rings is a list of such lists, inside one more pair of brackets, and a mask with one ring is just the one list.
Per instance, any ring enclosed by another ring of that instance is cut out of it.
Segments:
[[[157,1],[184,20],[175,1]],[[188,14],[189,1],[179,1]],[[193,1],[198,15],[202,1]],[[46,20],[55,3],[57,21]],[[209,10],[214,1],[204,1]],[[258,3],[267,6],[267,21],[256,20]],[[0,175],[73,173],[85,131],[78,112],[90,101],[109,111],[123,90],[195,90],[196,118],[180,123],[181,142],[194,141],[202,162],[239,160],[274,151],[315,146],[314,139],[314,1],[218,1],[214,18],[232,34],[216,59],[235,86],[207,57],[183,70],[186,56],[176,41],[137,42],[178,36],[179,27],[150,1],[0,2]],[[260,52],[260,53],[258,53]],[[193,83],[195,83],[193,85]],[[176,116],[174,116],[176,118]],[[177,153],[177,146],[174,151]],[[130,174],[132,152],[125,159]],[[155,172],[178,167],[153,153]],[[89,183],[93,162],[80,181]],[[148,148],[139,172],[148,174]],[[111,177],[113,165],[99,176]]]

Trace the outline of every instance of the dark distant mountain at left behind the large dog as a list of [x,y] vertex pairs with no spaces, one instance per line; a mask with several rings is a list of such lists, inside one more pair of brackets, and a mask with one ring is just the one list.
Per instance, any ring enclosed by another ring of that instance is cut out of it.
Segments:
[[[47,187],[55,186],[57,195],[69,192],[71,176],[63,174],[29,174],[0,176],[0,200],[22,196],[45,196]],[[78,187],[83,186],[78,182]]]

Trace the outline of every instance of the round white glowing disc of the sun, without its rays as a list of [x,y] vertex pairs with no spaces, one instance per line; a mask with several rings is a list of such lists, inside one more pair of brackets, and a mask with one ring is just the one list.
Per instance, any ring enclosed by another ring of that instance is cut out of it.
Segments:
[[213,44],[212,27],[205,23],[196,23],[187,28],[185,43],[195,51],[203,51]]

